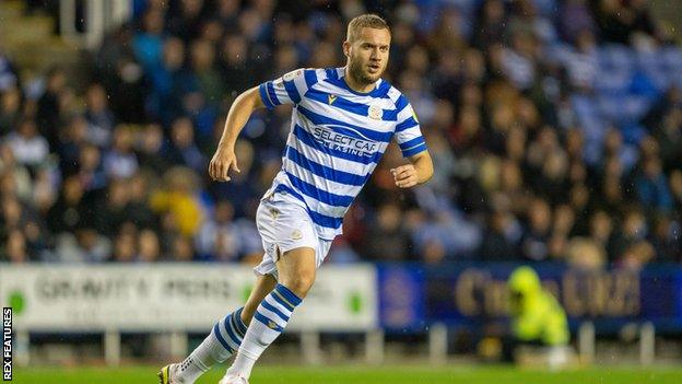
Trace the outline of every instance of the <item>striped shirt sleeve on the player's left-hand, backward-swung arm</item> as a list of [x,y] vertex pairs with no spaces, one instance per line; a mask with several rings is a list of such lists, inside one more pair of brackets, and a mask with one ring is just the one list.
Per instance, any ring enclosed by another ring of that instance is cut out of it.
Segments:
[[282,104],[298,104],[313,84],[317,82],[314,69],[296,69],[258,86],[260,98],[266,107],[274,108]]

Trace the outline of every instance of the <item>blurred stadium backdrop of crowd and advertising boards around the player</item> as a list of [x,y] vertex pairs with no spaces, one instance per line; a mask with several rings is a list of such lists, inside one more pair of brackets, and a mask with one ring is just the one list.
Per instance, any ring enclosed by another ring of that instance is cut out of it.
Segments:
[[[0,302],[26,382],[145,382],[244,301],[291,109],[255,114],[242,173],[212,183],[225,114],[262,81],[342,66],[364,12],[391,25],[386,78],[435,175],[398,190],[387,152],[266,364],[501,380],[456,372],[496,361],[521,264],[566,309],[577,365],[682,363],[682,2],[5,0]],[[131,364],[152,365],[105,369]]]

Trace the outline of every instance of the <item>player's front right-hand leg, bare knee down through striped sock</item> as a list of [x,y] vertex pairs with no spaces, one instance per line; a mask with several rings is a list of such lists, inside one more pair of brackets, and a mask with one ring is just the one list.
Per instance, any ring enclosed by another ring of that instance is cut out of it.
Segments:
[[294,310],[313,287],[316,267],[315,249],[311,247],[294,248],[279,258],[280,283],[256,310],[237,357],[221,383],[232,383],[231,380],[242,383],[244,381],[238,380],[250,376],[256,360],[284,330]]

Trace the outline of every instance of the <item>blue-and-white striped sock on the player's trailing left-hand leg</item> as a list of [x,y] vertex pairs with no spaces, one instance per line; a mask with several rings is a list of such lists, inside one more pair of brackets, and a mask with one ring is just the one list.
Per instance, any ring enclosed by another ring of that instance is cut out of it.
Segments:
[[211,366],[227,360],[239,349],[247,328],[242,322],[242,310],[244,307],[215,323],[211,334],[176,369],[176,381],[193,383]]

